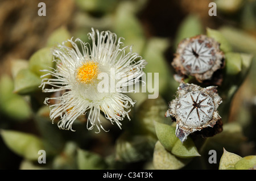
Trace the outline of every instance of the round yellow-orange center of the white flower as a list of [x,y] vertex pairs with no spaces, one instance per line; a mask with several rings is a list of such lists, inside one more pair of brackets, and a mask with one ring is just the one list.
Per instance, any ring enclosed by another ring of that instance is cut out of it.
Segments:
[[98,64],[93,61],[85,62],[77,69],[76,79],[81,83],[92,83],[99,73]]

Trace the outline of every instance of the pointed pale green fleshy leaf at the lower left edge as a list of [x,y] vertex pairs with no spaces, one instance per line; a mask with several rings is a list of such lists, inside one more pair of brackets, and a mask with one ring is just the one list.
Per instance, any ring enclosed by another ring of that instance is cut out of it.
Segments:
[[37,160],[38,151],[44,149],[42,140],[32,134],[1,130],[1,135],[9,149],[26,159]]

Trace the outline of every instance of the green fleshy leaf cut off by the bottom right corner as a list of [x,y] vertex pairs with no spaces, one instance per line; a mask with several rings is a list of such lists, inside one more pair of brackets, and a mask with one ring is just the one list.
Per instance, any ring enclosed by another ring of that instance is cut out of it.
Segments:
[[256,169],[256,155],[250,155],[240,159],[235,165],[234,168],[237,170],[248,170]]

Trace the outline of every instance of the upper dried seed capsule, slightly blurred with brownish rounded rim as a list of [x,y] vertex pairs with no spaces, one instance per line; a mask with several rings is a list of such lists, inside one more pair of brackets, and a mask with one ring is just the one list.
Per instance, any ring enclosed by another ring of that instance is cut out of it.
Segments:
[[172,62],[179,75],[195,76],[199,82],[211,79],[213,73],[222,65],[224,53],[220,50],[220,44],[206,35],[181,41]]

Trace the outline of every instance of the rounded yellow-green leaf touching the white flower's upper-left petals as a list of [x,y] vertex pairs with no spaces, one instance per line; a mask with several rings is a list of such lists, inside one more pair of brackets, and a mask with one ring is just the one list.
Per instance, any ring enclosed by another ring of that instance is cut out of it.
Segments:
[[45,47],[36,51],[29,60],[29,69],[38,76],[46,74],[41,70],[50,70],[54,66],[51,47]]

